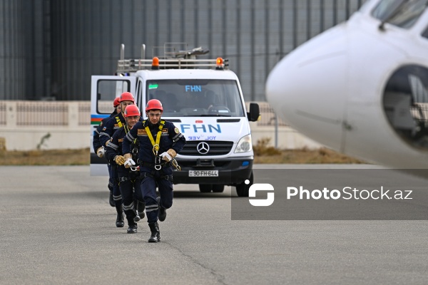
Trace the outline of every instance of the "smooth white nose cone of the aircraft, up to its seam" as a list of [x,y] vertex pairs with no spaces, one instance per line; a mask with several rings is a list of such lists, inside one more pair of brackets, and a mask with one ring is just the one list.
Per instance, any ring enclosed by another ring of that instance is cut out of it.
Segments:
[[346,35],[341,26],[283,58],[267,78],[266,97],[300,133],[340,148],[347,84]]

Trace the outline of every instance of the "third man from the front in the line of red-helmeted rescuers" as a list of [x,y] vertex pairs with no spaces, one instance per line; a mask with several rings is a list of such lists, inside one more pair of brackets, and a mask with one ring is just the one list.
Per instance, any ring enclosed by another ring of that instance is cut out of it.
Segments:
[[[113,133],[121,128],[123,125],[126,125],[125,118],[123,117],[123,112],[127,105],[133,105],[135,102],[133,95],[129,92],[123,92],[119,96],[119,103],[121,103],[121,113],[107,120],[106,124],[100,131],[100,142],[103,147],[107,146],[107,142],[110,141]],[[118,172],[116,165],[111,165],[111,172],[113,177],[113,200],[116,207],[116,227],[123,227],[124,217],[123,217],[123,206],[122,206],[122,196],[121,190],[118,185]]]

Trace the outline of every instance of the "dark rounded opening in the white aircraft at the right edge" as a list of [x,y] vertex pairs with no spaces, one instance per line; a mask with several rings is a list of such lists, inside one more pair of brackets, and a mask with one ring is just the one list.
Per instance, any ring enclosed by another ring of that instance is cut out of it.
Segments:
[[412,65],[395,71],[383,104],[396,133],[409,145],[428,150],[428,68]]

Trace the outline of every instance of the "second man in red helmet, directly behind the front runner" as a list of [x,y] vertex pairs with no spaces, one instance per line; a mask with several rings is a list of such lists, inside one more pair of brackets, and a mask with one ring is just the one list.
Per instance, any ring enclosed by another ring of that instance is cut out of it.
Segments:
[[[110,141],[107,142],[106,157],[113,164],[118,165],[119,189],[121,190],[123,211],[128,220],[128,234],[137,232],[137,223],[144,214],[144,202],[141,195],[141,180],[140,171],[137,167],[125,168],[123,163],[122,142],[125,135],[131,130],[133,125],[141,120],[141,113],[136,105],[128,105],[125,109],[124,117],[126,125],[116,130]],[[135,142],[132,144],[133,159],[138,161],[138,145]],[[135,151],[134,151],[135,150]],[[135,192],[135,197],[134,197]],[[140,204],[138,204],[140,203]],[[138,207],[138,214],[136,208]],[[144,216],[143,216],[144,217]]]

